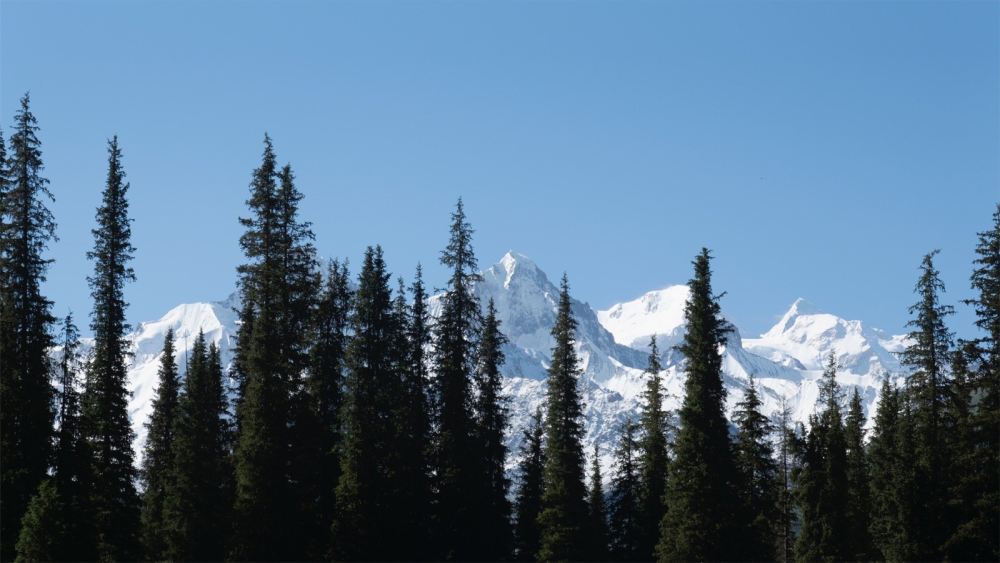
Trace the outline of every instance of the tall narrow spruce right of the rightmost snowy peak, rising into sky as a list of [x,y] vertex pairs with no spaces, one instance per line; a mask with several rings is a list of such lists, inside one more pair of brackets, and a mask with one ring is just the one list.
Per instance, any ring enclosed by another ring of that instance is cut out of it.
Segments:
[[903,365],[914,369],[907,378],[907,393],[913,405],[917,462],[914,486],[920,503],[913,539],[916,557],[921,560],[940,558],[940,546],[947,539],[945,530],[949,528],[941,519],[945,514],[947,476],[942,472],[945,452],[940,427],[948,393],[946,373],[952,345],[952,335],[944,320],[954,310],[940,301],[944,283],[934,267],[937,253],[935,250],[924,256],[920,266],[922,273],[914,290],[919,301],[910,307],[910,314],[915,317],[907,323],[913,329],[908,335],[912,344],[902,355]]

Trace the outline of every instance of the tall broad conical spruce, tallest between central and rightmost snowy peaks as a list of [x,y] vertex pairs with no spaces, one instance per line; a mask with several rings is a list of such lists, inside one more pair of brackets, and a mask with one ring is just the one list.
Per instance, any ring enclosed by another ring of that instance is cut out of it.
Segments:
[[691,296],[684,307],[688,328],[679,347],[687,360],[687,381],[667,484],[667,514],[657,545],[661,561],[742,559],[737,546],[718,541],[736,537],[733,515],[739,500],[719,354],[729,326],[721,317],[718,296],[712,293],[710,260],[703,248],[688,282]]

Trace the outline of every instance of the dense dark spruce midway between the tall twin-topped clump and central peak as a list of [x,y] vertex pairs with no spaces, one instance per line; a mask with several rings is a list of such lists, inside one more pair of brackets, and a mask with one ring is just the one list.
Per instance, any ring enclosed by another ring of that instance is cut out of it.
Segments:
[[397,322],[390,274],[381,247],[368,247],[358,277],[351,313],[353,337],[347,347],[344,405],[341,411],[341,472],[334,523],[335,557],[356,561],[397,559],[391,511],[394,469],[392,396],[400,390],[395,347]]

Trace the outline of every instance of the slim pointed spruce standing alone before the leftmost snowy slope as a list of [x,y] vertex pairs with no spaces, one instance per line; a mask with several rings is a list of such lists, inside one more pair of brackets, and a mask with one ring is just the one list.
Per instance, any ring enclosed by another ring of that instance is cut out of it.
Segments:
[[174,421],[180,389],[172,328],[167,330],[163,340],[157,379],[160,383],[153,395],[153,412],[146,422],[146,445],[140,471],[145,485],[142,495],[142,542],[146,557],[151,561],[164,560],[167,548],[163,505],[174,467]]

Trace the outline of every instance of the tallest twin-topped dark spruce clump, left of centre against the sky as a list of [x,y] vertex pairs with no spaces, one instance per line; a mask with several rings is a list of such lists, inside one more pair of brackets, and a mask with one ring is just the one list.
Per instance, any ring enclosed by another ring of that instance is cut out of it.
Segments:
[[309,367],[314,298],[318,292],[313,233],[298,220],[302,195],[290,167],[278,171],[264,136],[261,166],[254,170],[240,219],[247,263],[239,273],[240,311],[235,358],[240,397],[235,469],[234,559],[302,559],[310,543],[300,535],[315,518],[301,476],[309,456],[290,432],[309,412],[304,375]]

